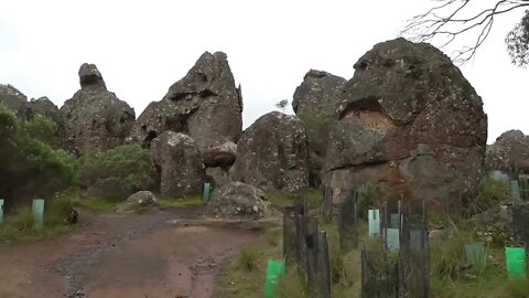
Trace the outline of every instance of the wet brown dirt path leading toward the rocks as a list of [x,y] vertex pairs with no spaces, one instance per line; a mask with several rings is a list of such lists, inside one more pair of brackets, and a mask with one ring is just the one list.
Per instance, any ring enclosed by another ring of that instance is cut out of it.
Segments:
[[202,210],[80,212],[82,226],[53,240],[0,247],[0,298],[208,298],[218,264],[262,242],[245,231],[174,227]]

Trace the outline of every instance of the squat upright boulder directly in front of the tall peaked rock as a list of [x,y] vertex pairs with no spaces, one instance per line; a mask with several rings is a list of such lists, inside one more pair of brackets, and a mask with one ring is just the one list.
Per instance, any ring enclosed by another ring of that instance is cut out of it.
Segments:
[[204,164],[193,138],[168,130],[151,141],[150,151],[162,195],[184,198],[201,193]]

